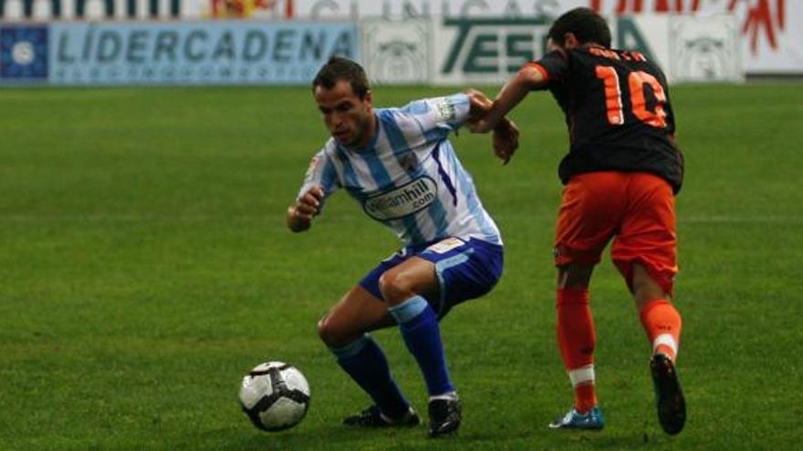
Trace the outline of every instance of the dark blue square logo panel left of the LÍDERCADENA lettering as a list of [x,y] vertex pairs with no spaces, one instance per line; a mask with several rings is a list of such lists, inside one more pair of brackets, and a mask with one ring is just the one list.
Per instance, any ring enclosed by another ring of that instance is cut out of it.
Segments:
[[47,26],[0,28],[0,78],[47,79]]

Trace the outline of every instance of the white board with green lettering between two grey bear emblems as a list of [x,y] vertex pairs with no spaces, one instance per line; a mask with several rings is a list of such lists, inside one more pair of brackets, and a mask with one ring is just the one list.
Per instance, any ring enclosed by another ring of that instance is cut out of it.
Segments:
[[[641,51],[671,82],[743,79],[733,15],[620,16],[614,46]],[[546,52],[551,19],[445,17],[360,21],[363,56],[373,82],[464,86],[501,84]]]

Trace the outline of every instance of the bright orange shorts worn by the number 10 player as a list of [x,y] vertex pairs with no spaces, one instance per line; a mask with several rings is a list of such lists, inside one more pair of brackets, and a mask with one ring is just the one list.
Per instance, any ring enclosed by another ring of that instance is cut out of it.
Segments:
[[563,189],[555,230],[555,264],[597,264],[610,239],[610,259],[632,291],[633,263],[671,293],[677,274],[672,186],[647,172],[589,172]]

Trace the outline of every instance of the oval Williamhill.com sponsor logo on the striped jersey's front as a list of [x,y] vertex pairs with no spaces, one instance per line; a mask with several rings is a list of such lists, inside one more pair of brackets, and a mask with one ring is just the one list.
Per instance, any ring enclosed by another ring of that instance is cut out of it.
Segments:
[[363,200],[362,209],[375,220],[398,220],[427,208],[437,197],[435,180],[422,177],[370,196]]

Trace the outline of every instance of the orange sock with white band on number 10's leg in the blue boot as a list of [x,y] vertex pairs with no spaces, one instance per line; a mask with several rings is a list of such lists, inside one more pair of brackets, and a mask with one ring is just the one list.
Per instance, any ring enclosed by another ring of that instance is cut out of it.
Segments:
[[594,390],[594,346],[597,336],[589,308],[589,291],[558,289],[558,344],[574,387],[575,408],[588,412],[597,405]]

